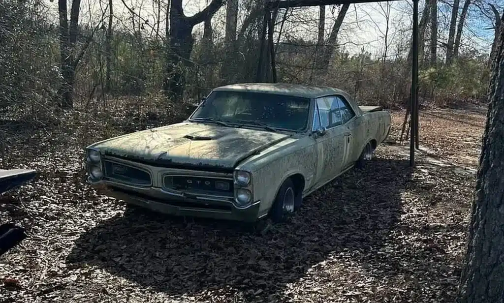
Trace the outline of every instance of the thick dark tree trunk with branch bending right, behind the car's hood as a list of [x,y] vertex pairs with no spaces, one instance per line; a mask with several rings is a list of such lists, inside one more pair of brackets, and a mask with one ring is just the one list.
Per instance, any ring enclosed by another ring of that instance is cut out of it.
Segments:
[[163,88],[171,99],[180,99],[184,92],[184,67],[190,62],[193,51],[193,28],[211,18],[223,5],[223,0],[212,2],[198,14],[187,17],[184,15],[182,0],[172,0],[170,3],[169,42],[166,58],[165,79]]

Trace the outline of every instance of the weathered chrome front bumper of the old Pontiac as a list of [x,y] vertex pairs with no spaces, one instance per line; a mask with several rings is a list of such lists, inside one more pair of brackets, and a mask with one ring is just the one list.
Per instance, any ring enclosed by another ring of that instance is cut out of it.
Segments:
[[208,196],[174,194],[157,187],[137,187],[109,180],[93,182],[90,178],[88,183],[103,195],[171,215],[247,222],[256,221],[263,216],[259,215],[261,201],[241,209],[236,208],[231,201]]

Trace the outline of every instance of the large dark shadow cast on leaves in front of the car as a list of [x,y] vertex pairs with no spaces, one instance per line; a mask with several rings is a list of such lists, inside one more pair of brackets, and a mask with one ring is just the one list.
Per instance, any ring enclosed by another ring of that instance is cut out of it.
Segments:
[[67,263],[95,265],[174,296],[282,296],[330,255],[380,249],[410,178],[407,161],[375,159],[311,194],[290,222],[263,237],[241,223],[128,212],[82,234]]

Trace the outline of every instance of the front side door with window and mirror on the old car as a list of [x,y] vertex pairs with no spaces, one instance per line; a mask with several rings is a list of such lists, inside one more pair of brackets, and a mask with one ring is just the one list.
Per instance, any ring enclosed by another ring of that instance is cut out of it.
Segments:
[[319,187],[336,177],[343,168],[346,128],[341,123],[341,114],[336,96],[316,99],[316,110],[313,119],[313,131],[325,127],[324,134],[314,133],[318,163],[316,181]]

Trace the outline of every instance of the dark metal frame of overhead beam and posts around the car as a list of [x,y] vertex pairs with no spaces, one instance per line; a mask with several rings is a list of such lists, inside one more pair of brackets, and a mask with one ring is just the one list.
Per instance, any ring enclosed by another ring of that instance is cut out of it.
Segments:
[[[275,66],[275,51],[273,46],[273,20],[271,20],[271,11],[273,9],[287,9],[299,7],[313,7],[322,5],[343,5],[357,3],[374,3],[385,2],[387,0],[265,0],[265,15],[263,19],[263,27],[261,32],[261,47],[260,57],[256,73],[256,82],[260,82],[263,78],[263,54],[265,48],[266,27],[268,27],[270,41],[270,56],[271,67],[273,71],[273,82],[277,82],[276,66]],[[398,0],[390,0],[398,1]],[[268,26],[267,26],[268,25]],[[271,36],[271,37],[270,37]],[[411,134],[410,134],[410,166],[415,166],[415,147],[419,148],[418,140],[418,0],[413,0],[413,33],[412,33],[412,68],[411,68],[411,95],[410,95],[410,111],[411,111]]]

